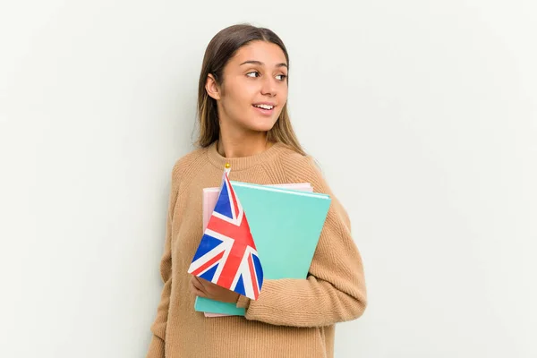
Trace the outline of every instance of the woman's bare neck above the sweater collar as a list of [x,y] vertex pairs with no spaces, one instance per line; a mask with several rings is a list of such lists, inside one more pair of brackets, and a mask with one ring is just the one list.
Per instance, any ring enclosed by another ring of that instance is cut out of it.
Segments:
[[231,135],[220,131],[217,151],[226,158],[250,157],[259,154],[271,146],[267,132],[235,133]]

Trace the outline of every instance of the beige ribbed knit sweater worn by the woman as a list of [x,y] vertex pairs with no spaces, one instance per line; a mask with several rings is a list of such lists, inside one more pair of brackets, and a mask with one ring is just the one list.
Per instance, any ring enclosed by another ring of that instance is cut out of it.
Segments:
[[[231,180],[309,182],[332,203],[307,279],[265,279],[256,301],[239,298],[244,317],[206,318],[194,311],[187,269],[202,235],[201,190],[221,184],[226,163]],[[345,209],[312,159],[282,143],[245,158],[224,158],[213,143],[176,162],[160,273],[164,287],[147,358],[330,358],[334,325],[357,319],[366,307],[362,258]]]

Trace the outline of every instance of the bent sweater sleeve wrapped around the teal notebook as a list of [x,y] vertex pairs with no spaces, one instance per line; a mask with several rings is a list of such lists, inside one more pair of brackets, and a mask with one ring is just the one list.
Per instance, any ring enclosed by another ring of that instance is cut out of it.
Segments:
[[247,320],[320,327],[355,320],[366,308],[362,258],[351,235],[349,217],[320,171],[309,158],[306,160],[286,171],[297,174],[294,180],[310,182],[315,192],[328,193],[332,199],[309,275],[304,279],[266,279],[255,301],[240,296],[236,305],[245,309]]

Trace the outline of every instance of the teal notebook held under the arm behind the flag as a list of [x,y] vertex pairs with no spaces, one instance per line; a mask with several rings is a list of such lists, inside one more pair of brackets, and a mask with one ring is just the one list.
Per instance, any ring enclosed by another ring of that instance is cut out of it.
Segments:
[[[328,214],[331,202],[328,194],[231,183],[248,219],[263,278],[306,278]],[[194,309],[244,315],[244,310],[234,303],[203,297],[196,298]]]

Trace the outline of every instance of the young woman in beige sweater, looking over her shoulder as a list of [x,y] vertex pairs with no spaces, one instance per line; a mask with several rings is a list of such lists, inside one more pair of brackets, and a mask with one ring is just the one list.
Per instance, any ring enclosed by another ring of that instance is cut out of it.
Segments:
[[[287,114],[289,56],[271,30],[234,25],[207,47],[198,96],[199,149],[172,170],[164,282],[148,358],[332,357],[334,325],[366,307],[362,259],[349,217],[314,161],[304,153]],[[332,203],[307,279],[263,281],[257,300],[187,273],[202,236],[201,190],[231,180],[312,184]],[[206,318],[196,295],[235,303],[245,316]]]

